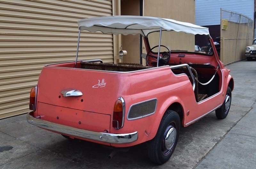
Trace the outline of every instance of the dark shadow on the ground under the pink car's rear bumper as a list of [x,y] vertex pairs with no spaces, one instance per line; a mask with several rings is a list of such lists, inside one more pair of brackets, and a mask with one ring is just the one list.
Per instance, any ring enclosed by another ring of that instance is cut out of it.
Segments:
[[111,159],[108,156],[116,148],[83,140],[60,139],[59,142],[49,145],[46,149],[47,152],[54,153],[59,158],[74,163],[77,167],[124,168],[125,166],[131,167],[131,164],[136,164],[132,166],[135,168],[157,166],[147,157],[147,143],[130,148],[120,148],[120,151]]

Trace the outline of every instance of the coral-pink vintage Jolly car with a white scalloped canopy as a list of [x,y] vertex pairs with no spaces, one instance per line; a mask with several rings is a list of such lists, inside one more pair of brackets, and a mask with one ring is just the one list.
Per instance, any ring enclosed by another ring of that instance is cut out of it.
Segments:
[[[234,80],[208,28],[142,16],[87,18],[78,27],[76,60],[44,66],[30,93],[28,123],[112,147],[148,142],[149,158],[163,164],[181,126],[213,111],[219,119],[228,115]],[[82,31],[141,34],[144,63],[77,60]]]

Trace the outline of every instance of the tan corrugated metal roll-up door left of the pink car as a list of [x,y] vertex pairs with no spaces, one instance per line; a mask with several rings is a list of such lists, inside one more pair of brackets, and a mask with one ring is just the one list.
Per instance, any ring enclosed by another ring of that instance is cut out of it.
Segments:
[[[111,0],[0,0],[0,119],[29,112],[45,64],[75,60],[77,20],[111,15]],[[113,63],[113,35],[82,32],[78,59]]]

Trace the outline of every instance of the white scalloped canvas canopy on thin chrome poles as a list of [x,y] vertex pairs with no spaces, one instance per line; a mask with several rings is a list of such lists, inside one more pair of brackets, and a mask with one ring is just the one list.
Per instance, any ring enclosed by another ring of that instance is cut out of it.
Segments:
[[187,22],[180,22],[173,19],[145,17],[145,16],[108,16],[87,18],[78,20],[78,26],[90,32],[100,31],[102,33],[113,34],[141,34],[147,36],[148,33],[160,31],[177,31],[196,34],[209,34],[206,27],[197,26]]

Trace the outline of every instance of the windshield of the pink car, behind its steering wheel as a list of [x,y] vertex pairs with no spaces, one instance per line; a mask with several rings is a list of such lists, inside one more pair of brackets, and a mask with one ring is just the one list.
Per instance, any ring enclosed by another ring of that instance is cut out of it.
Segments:
[[[150,48],[158,46],[159,32],[149,33],[148,42]],[[184,32],[162,31],[161,45],[166,46],[171,51],[196,52],[205,55],[212,55],[212,47],[207,35],[193,35]],[[167,49],[161,47],[160,51],[167,52]],[[158,52],[158,47],[153,49],[153,52]]]

